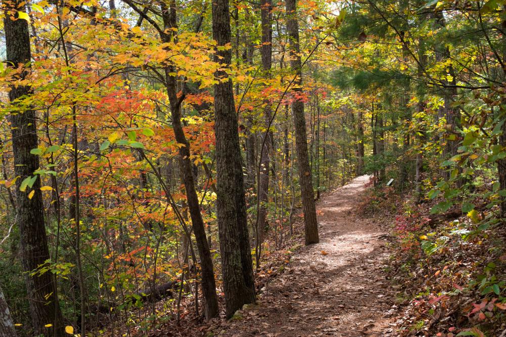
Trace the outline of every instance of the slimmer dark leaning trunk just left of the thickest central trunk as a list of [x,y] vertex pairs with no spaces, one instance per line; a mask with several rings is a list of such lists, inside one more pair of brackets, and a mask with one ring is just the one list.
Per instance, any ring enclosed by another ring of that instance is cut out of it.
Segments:
[[[168,13],[166,8],[162,6],[162,13],[166,13],[162,16],[165,30],[177,28],[175,6],[176,2],[175,0],[172,0]],[[171,31],[175,32],[175,30]],[[171,36],[168,34],[164,34],[164,36],[162,36],[162,39],[165,43],[169,42],[171,38],[176,38],[176,36]],[[205,318],[209,320],[213,317],[218,316],[219,314],[213,259],[209,250],[209,245],[205,234],[204,221],[202,220],[202,214],[200,213],[200,203],[198,200],[197,192],[195,190],[195,178],[193,175],[193,167],[190,160],[190,143],[186,139],[186,135],[183,130],[183,123],[181,122],[181,103],[184,99],[184,96],[181,98],[177,97],[177,79],[175,76],[172,76],[171,73],[176,73],[176,69],[174,69],[173,66],[166,67],[165,86],[167,90],[167,96],[171,104],[174,136],[178,143],[185,145],[179,149],[179,166],[183,175],[193,233],[195,234],[197,249],[200,256],[200,266],[202,269],[202,293],[205,300],[204,314]]]

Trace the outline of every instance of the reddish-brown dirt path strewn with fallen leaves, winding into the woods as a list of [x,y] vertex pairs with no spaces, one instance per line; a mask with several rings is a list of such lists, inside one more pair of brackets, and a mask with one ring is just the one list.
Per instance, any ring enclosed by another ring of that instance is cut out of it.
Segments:
[[257,306],[220,336],[389,336],[392,289],[382,228],[356,214],[368,176],[317,203],[320,243],[298,250]]

